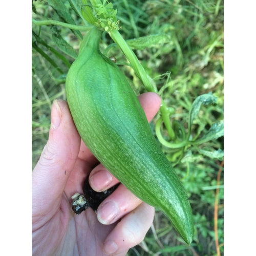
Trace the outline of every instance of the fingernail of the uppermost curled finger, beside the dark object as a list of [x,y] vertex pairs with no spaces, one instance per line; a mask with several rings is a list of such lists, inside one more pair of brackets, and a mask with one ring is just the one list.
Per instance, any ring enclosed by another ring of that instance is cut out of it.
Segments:
[[95,191],[100,192],[106,190],[112,180],[112,176],[107,170],[99,170],[90,177],[90,185]]

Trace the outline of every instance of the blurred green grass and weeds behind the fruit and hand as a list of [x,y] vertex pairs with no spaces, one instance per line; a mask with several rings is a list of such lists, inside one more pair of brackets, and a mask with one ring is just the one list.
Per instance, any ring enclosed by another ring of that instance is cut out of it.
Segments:
[[[62,2],[75,24],[84,25],[72,8],[73,1]],[[54,3],[33,1],[33,18],[62,21]],[[187,132],[189,113],[198,96],[211,93],[216,97],[215,104],[200,105],[191,123],[190,137],[202,138],[212,125],[223,120],[223,1],[119,0],[113,4],[118,8],[120,33],[126,40],[161,35],[147,46],[140,41],[134,51],[154,78],[169,108],[170,122],[177,121],[179,133]],[[65,76],[84,34],[85,31],[73,33],[59,26],[32,26],[32,168],[48,139],[52,101],[66,99]],[[101,48],[112,43],[105,34]],[[145,92],[134,71],[125,65],[121,51],[111,47],[108,56],[111,55],[117,58],[136,94]],[[151,123],[154,133],[158,118],[159,114]],[[163,139],[169,141],[165,126],[160,125],[159,129]],[[161,146],[189,196],[195,222],[194,241],[185,245],[167,218],[156,211],[144,241],[128,255],[223,255],[223,136],[178,150]]]

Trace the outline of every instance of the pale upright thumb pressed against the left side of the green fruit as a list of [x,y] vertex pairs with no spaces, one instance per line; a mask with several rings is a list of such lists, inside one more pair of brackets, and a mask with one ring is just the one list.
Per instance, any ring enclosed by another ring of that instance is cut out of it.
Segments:
[[54,100],[49,139],[32,172],[32,210],[35,215],[49,212],[49,207],[57,205],[56,200],[60,200],[76,162],[80,142],[67,102]]

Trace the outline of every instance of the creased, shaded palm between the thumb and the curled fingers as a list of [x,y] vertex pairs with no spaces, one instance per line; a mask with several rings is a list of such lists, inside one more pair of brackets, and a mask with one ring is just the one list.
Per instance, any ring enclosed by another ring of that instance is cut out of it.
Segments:
[[[37,229],[34,234],[41,232],[42,228],[44,232],[41,234],[47,234],[37,238],[40,244],[47,244],[47,248],[44,248],[46,255],[60,255],[65,251],[73,251],[73,255],[80,255],[79,252],[82,251],[86,251],[87,255],[102,255],[103,242],[115,227],[115,224],[101,224],[91,208],[80,215],[75,215],[71,209],[72,195],[76,191],[82,193],[83,182],[81,181],[84,180],[84,176],[89,175],[92,170],[91,166],[97,162],[83,143],[81,147],[79,155],[87,156],[87,158],[77,158],[73,168],[76,171],[71,172],[63,194],[58,196],[59,200],[44,202],[44,219],[46,218],[44,226],[36,228],[43,221],[42,218],[37,220],[36,216],[41,217],[43,212],[42,210],[34,212],[33,226]],[[67,175],[67,170],[63,171],[63,175]]]

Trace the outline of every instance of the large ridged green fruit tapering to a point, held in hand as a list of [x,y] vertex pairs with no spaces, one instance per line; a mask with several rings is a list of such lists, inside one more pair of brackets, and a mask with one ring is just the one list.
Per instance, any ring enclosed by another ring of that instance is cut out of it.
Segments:
[[162,210],[190,244],[193,216],[183,185],[125,76],[100,53],[101,35],[94,28],[83,39],[66,78],[67,101],[78,133],[125,187]]

